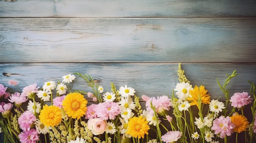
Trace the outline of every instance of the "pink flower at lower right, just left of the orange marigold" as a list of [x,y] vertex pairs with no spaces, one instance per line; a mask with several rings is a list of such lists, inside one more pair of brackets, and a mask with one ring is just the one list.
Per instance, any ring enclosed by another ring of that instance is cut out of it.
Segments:
[[216,118],[213,121],[213,126],[211,127],[211,130],[214,130],[214,134],[220,133],[220,138],[224,138],[226,135],[231,136],[231,134],[234,132],[233,129],[236,125],[231,123],[230,117],[224,117],[221,116],[219,118]]

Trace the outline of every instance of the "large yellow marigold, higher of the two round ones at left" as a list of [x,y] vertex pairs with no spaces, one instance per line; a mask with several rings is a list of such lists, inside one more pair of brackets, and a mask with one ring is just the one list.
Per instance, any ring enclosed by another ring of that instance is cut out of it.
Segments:
[[70,93],[62,101],[64,111],[73,119],[80,119],[85,114],[87,100],[80,93]]

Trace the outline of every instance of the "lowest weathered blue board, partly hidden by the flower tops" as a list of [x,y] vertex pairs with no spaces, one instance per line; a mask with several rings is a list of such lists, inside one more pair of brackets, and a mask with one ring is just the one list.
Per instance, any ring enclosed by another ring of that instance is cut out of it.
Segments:
[[[221,97],[220,100],[224,100],[225,97],[223,97],[216,79],[218,78],[223,84],[227,78],[226,73],[231,74],[237,70],[239,74],[229,83],[231,95],[234,92],[249,92],[248,80],[256,83],[256,64],[184,63],[182,68],[193,86],[204,85],[211,97]],[[57,82],[61,80],[63,75],[80,72],[98,80],[105,91],[110,91],[110,82],[113,82],[117,89],[127,85],[135,88],[138,96],[156,97],[172,94],[172,90],[179,82],[177,69],[177,63],[9,63],[0,64],[0,82],[9,86],[8,81],[15,79],[20,83],[18,87],[34,83],[42,87],[44,82],[50,80]],[[3,73],[14,75],[7,77]],[[78,76],[76,77],[73,89],[90,91],[85,81]]]

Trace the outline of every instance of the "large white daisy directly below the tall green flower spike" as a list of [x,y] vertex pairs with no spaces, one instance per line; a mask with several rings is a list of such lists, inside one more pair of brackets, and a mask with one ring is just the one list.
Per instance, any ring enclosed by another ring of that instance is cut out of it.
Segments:
[[182,81],[182,83],[177,83],[175,87],[174,90],[177,91],[175,94],[179,99],[185,100],[186,98],[191,97],[189,90],[193,90],[193,88],[189,83]]

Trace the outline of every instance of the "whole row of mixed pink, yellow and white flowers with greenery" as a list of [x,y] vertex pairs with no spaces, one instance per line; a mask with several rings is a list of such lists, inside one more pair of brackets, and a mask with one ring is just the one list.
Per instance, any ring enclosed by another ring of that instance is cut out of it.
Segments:
[[[76,76],[90,91],[72,90]],[[229,97],[228,75],[220,89],[222,102],[211,99],[203,85],[192,86],[179,64],[180,82],[172,95],[141,95],[145,107],[127,85],[111,91],[94,83],[89,75],[65,75],[62,81],[47,81],[40,88],[31,84],[16,90],[0,84],[0,125],[7,143],[228,143],[256,141],[256,98],[237,92]],[[86,98],[85,98],[86,97]],[[88,102],[87,99],[92,99]],[[9,102],[8,102],[9,101]],[[251,106],[252,119],[244,114]],[[24,110],[25,109],[25,110]]]

